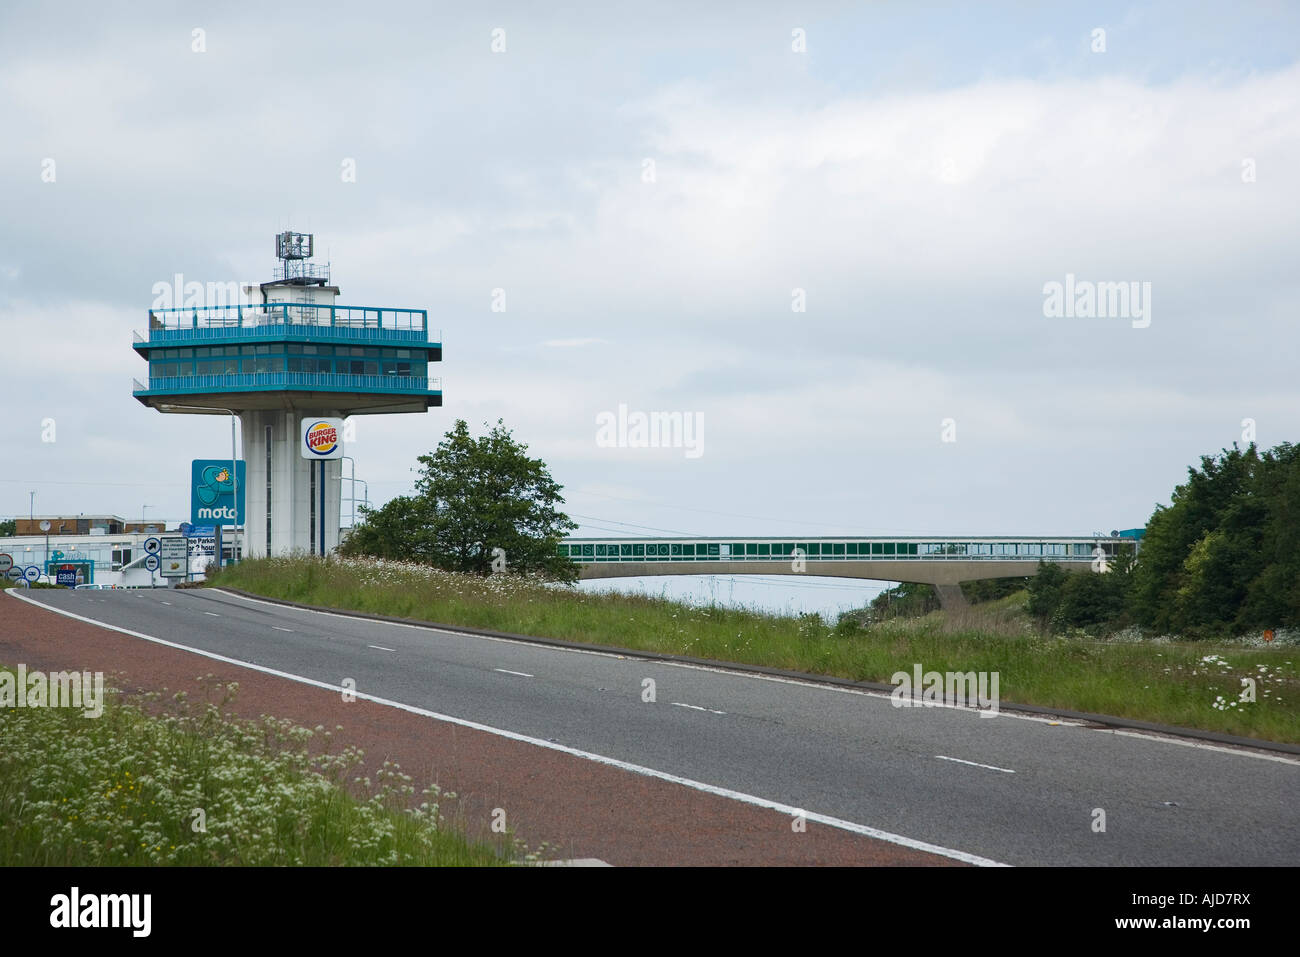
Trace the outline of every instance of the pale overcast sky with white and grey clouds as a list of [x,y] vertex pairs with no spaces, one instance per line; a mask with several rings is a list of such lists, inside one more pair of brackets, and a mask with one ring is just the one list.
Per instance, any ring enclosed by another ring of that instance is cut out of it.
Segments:
[[[0,12],[0,515],[187,518],[229,424],[140,406],[131,332],[281,229],[442,330],[376,501],[500,417],[582,533],[1091,533],[1300,438],[1295,4],[212,7]],[[1067,274],[1149,324],[1045,316]],[[620,403],[702,454],[602,447]]]

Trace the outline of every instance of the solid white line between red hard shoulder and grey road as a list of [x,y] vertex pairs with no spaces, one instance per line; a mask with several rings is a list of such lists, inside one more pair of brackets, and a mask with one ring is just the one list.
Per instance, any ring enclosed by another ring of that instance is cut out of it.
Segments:
[[[13,592],[13,589],[6,589]],[[276,668],[268,668],[261,664],[252,664],[251,662],[242,662],[235,658],[228,658],[224,654],[216,654],[214,651],[204,651],[199,648],[190,648],[188,645],[179,645],[174,641],[166,641],[164,638],[156,638],[152,635],[144,635],[142,632],[133,632],[129,628],[120,628],[116,624],[105,624],[103,622],[96,622],[92,618],[86,618],[83,615],[74,615],[72,611],[64,611],[62,609],[56,609],[52,605],[44,605],[35,601],[34,598],[26,598],[23,596],[14,594],[14,598],[25,601],[29,605],[35,605],[38,609],[44,609],[46,611],[53,611],[56,615],[64,615],[65,618],[73,618],[78,622],[84,622],[87,624],[96,625],[99,628],[108,628],[109,631],[118,632],[121,635],[129,635],[133,638],[142,638],[144,641],[152,641],[156,645],[162,645],[165,648],[174,648],[179,651],[190,651],[191,654],[198,654],[204,658],[211,658],[212,661],[224,662],[226,664],[235,664],[240,668],[251,668],[254,671],[260,671],[264,675],[273,675],[276,677],[283,677],[289,681],[298,681],[299,684],[311,685],[313,688],[321,688],[328,692],[339,692],[341,685],[326,684],[325,681],[317,681],[313,677],[306,677],[303,675],[292,675],[287,671],[278,671]],[[619,758],[607,758],[603,754],[593,754],[592,752],[578,750],[577,748],[569,748],[563,744],[556,744],[554,741],[543,741],[540,737],[529,737],[528,735],[521,735],[517,731],[506,731],[504,728],[494,728],[489,724],[480,724],[478,722],[471,722],[464,718],[456,718],[450,714],[439,714],[437,711],[429,711],[422,707],[416,707],[413,705],[404,705],[400,701],[389,701],[387,698],[381,698],[374,694],[367,694],[365,692],[350,690],[350,694],[358,698],[364,698],[365,701],[372,701],[376,705],[385,705],[387,707],[395,707],[410,714],[417,714],[424,718],[433,718],[434,720],[447,722],[448,724],[456,724],[462,728],[471,728],[473,731],[482,731],[488,735],[497,735],[498,737],[504,737],[510,741],[520,741],[523,744],[530,744],[537,748],[546,748],[547,750],[559,752],[560,754],[569,754],[576,758],[584,758],[586,761],[593,761],[598,765],[604,765],[607,767],[616,767],[623,771],[630,771],[632,774],[638,774],[644,778],[654,778],[656,780],[668,781],[670,784],[680,784],[693,791],[701,791],[706,794],[715,794],[718,797],[728,797],[733,801],[740,801],[741,804],[753,805],[755,807],[767,807],[770,810],[777,811],[779,814],[785,814],[786,817],[802,815],[805,820],[811,820],[816,824],[826,824],[827,827],[835,827],[841,831],[849,831],[850,833],[858,833],[863,837],[874,837],[875,840],[887,841],[889,844],[898,844],[905,848],[911,848],[913,850],[922,850],[928,854],[939,854],[940,857],[948,857],[954,861],[962,861],[963,863],[971,863],[979,867],[1009,867],[1010,865],[1001,863],[1000,861],[993,861],[987,857],[979,857],[978,854],[968,854],[965,850],[956,850],[953,848],[944,848],[937,844],[930,844],[927,841],[918,841],[913,837],[904,837],[902,835],[889,833],[888,831],[880,831],[875,827],[867,827],[866,824],[858,824],[852,820],[844,820],[841,818],[832,818],[828,814],[818,814],[816,811],[805,811],[801,807],[794,807],[788,804],[781,804],[780,801],[770,801],[766,797],[755,797],[754,794],[746,794],[741,791],[732,791],[731,788],[720,788],[714,784],[705,784],[703,781],[690,780],[689,778],[680,778],[675,774],[668,774],[667,771],[656,771],[653,767],[644,767],[641,765],[633,765],[628,761],[620,761]]]

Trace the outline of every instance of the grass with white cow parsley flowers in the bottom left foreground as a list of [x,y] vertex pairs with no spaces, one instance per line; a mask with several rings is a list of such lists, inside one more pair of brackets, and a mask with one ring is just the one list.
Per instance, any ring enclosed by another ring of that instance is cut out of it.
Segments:
[[[4,671],[4,668],[0,668]],[[450,830],[436,787],[411,807],[395,765],[347,776],[358,749],[287,720],[234,719],[222,701],[107,694],[99,718],[0,707],[0,863],[497,865],[497,848]],[[152,702],[152,703],[151,703]],[[369,793],[356,797],[359,788]]]

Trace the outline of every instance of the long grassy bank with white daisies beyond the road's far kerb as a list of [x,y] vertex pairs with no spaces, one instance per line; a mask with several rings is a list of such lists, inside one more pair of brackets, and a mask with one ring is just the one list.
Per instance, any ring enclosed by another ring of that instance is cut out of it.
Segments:
[[[998,672],[1004,702],[1300,742],[1300,649],[1098,642],[1036,633],[1024,597],[945,615],[836,628],[815,615],[581,593],[377,559],[251,559],[213,577],[270,598],[863,681],[898,671]],[[1256,684],[1243,702],[1242,679]]]

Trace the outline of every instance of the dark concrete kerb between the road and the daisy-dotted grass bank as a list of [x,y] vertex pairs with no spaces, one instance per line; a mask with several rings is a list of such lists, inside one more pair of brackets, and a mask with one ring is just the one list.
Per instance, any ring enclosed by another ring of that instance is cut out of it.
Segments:
[[[254,598],[256,601],[270,602],[272,605],[283,605],[291,609],[303,609],[306,611],[324,611],[332,615],[346,615],[348,618],[359,618],[370,622],[393,622],[395,624],[415,625],[417,628],[430,628],[445,632],[460,632],[463,635],[482,635],[490,638],[507,638],[510,641],[521,641],[530,645],[566,648],[580,651],[604,651],[607,654],[623,655],[624,658],[641,658],[645,661],[697,664],[701,667],[716,668],[719,671],[767,675],[771,677],[783,677],[790,681],[802,681],[805,684],[812,684],[812,685],[820,684],[820,685],[832,685],[837,688],[855,688],[859,690],[884,692],[884,693],[894,690],[894,685],[883,684],[878,681],[854,681],[853,679],[849,677],[836,677],[833,675],[812,675],[806,671],[771,668],[763,664],[741,664],[737,662],[724,662],[712,658],[693,658],[682,654],[667,654],[662,651],[645,651],[641,649],[619,648],[618,645],[595,645],[581,641],[566,641],[563,638],[542,638],[537,637],[536,635],[516,635],[514,632],[498,632],[498,631],[491,631],[489,628],[471,628],[468,625],[442,624],[438,622],[425,622],[415,618],[378,615],[369,611],[355,611],[352,609],[334,609],[325,605],[304,605],[302,602],[291,602],[283,598],[268,598],[266,596],[263,594],[255,594],[252,592],[244,592],[243,589],[229,588],[229,586],[199,589],[198,594],[202,596],[204,590],[224,592],[228,594],[239,596],[240,598]],[[1208,741],[1212,744],[1230,745],[1235,748],[1253,748],[1256,750],[1278,752],[1282,754],[1300,754],[1300,744],[1287,744],[1284,741],[1265,741],[1257,737],[1240,737],[1238,735],[1223,735],[1217,731],[1182,728],[1171,724],[1140,722],[1134,718],[1117,718],[1114,715],[1106,715],[1106,714],[1092,714],[1089,711],[1067,711],[1060,707],[1041,707],[1039,705],[1020,705],[1020,703],[1008,703],[1008,702],[1001,702],[998,705],[998,710],[1017,711],[1020,714],[1031,714],[1044,718],[1066,718],[1076,722],[1100,724],[1108,728],[1118,728],[1124,731],[1145,731],[1156,735],[1167,735],[1170,737],[1186,737],[1195,741]]]

